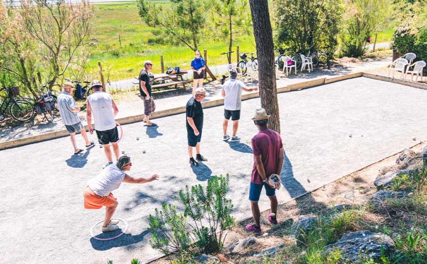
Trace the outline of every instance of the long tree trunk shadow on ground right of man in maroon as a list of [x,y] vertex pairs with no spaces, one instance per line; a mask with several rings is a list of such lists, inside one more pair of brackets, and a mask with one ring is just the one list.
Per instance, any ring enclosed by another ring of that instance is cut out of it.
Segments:
[[[283,151],[283,167],[282,167],[282,173],[280,174],[280,179],[282,180],[282,185],[285,187],[291,198],[295,198],[298,196],[301,196],[302,194],[307,193],[306,196],[308,199],[311,200],[311,205],[316,205],[318,208],[326,209],[327,206],[323,203],[318,203],[314,200],[313,195],[308,192],[295,178],[292,171],[292,164],[289,160],[288,156],[286,155],[286,152]],[[306,208],[308,205],[306,202],[296,199],[295,200],[298,208],[302,210],[303,208]]]

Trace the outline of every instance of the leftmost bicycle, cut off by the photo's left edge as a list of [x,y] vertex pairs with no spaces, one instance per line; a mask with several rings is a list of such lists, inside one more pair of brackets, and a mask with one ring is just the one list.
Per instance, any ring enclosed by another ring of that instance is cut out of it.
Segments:
[[15,98],[19,95],[19,87],[5,87],[2,90],[7,92],[6,98],[0,105],[0,121],[5,120],[6,110],[17,121],[27,121],[34,116],[34,108],[31,103],[23,98]]

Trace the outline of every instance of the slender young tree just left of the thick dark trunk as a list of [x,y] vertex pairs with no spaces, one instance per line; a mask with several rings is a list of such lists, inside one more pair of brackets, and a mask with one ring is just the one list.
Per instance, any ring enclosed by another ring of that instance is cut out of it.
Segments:
[[[210,12],[210,20],[216,30],[215,36],[228,39],[228,51],[232,51],[236,38],[250,34],[251,14],[246,0],[210,0],[214,12]],[[231,63],[231,56],[228,57]]]

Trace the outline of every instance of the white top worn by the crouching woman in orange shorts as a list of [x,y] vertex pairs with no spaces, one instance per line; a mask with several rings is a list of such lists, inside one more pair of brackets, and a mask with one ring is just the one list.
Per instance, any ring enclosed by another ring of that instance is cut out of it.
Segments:
[[99,196],[108,196],[110,192],[118,189],[125,178],[125,172],[114,164],[108,165],[98,176],[90,179],[87,186]]

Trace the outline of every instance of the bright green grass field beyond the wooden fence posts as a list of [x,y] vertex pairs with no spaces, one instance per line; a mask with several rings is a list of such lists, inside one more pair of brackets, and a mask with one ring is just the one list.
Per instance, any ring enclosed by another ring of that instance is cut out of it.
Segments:
[[[156,2],[162,5],[170,3],[164,0]],[[160,56],[163,56],[165,69],[175,66],[186,69],[190,67],[194,53],[187,46],[153,43],[156,41],[156,37],[151,34],[153,28],[147,26],[139,17],[136,2],[96,5],[93,22],[90,43],[96,43],[96,46],[88,47],[89,69],[97,71],[97,63],[101,61],[105,76],[111,81],[137,76],[143,61],[147,59],[154,63],[153,72],[160,73]],[[389,41],[392,34],[392,28],[380,32],[377,43]],[[234,45],[239,46],[240,52],[255,51],[253,35],[240,38]],[[207,49],[208,64],[227,63],[226,56],[220,55],[228,50],[227,41],[206,42],[199,49]],[[236,61],[235,53],[232,60]]]

